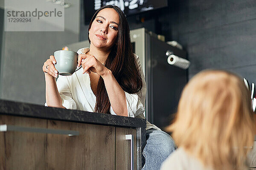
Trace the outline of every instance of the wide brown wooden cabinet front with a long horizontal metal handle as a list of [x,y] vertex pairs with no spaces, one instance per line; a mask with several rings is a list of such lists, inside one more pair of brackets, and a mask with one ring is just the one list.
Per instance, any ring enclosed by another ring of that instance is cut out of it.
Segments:
[[113,126],[5,115],[0,124],[79,131],[79,136],[0,132],[0,170],[115,169]]

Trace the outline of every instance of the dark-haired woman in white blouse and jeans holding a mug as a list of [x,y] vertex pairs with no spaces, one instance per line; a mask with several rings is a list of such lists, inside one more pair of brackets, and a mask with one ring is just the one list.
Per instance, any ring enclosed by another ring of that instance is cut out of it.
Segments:
[[[72,76],[55,77],[54,56],[44,62],[46,106],[143,118],[146,84],[139,57],[131,48],[130,30],[117,6],[104,6],[94,14],[88,29],[90,48],[78,50]],[[87,73],[87,74],[84,74]],[[160,169],[175,149],[167,133],[147,122],[143,169]]]

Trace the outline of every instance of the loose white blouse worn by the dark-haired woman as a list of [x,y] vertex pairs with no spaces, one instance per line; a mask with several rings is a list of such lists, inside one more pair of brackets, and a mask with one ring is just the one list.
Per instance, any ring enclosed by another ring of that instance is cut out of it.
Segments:
[[[90,48],[80,48],[77,53],[85,54],[89,51]],[[140,59],[136,55],[137,61],[140,65]],[[57,88],[61,96],[62,106],[67,109],[81,110],[94,112],[96,105],[96,96],[93,94],[93,91],[90,86],[90,76],[89,74],[82,74],[83,68],[76,71],[71,76],[58,76],[57,79]],[[145,111],[145,96],[146,96],[146,82],[145,77],[140,65],[140,74],[142,76],[143,87],[141,91],[137,94],[129,94],[125,92],[126,105],[129,117],[136,117],[145,119],[143,113]],[[47,106],[47,103],[45,103]],[[113,111],[112,106],[110,107],[110,113],[116,115]],[[147,128],[154,128],[160,130],[155,125],[150,124],[147,121]]]

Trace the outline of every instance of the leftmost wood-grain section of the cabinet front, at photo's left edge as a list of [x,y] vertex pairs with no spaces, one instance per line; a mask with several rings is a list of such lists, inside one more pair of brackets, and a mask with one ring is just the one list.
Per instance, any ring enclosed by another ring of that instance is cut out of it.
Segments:
[[[47,120],[20,116],[0,116],[0,123],[24,127],[46,128]],[[44,170],[45,133],[0,132],[0,165],[3,170]],[[5,145],[3,144],[5,142]],[[2,155],[4,155],[2,157]]]

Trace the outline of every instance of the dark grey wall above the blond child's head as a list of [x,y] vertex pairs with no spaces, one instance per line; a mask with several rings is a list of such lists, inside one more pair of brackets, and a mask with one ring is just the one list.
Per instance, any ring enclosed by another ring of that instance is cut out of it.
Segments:
[[[169,0],[168,3],[167,8],[127,17],[130,29],[145,27],[163,34],[166,41],[176,40],[183,45],[191,61],[189,78],[201,70],[215,68],[233,71],[249,82],[256,82],[255,0]],[[80,38],[87,38],[83,30]]]

